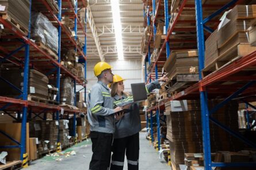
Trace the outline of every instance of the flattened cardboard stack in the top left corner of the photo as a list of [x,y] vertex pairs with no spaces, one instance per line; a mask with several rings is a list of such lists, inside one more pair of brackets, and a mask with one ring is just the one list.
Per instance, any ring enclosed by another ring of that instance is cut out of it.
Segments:
[[1,14],[5,14],[3,18],[14,22],[14,25],[21,26],[28,33],[29,25],[29,0],[1,0]]

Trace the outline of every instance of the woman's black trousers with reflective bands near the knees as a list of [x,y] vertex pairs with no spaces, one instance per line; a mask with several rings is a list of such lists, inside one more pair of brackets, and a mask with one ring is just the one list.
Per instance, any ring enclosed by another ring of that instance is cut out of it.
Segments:
[[110,170],[123,170],[126,151],[128,170],[139,169],[139,133],[129,137],[114,139]]

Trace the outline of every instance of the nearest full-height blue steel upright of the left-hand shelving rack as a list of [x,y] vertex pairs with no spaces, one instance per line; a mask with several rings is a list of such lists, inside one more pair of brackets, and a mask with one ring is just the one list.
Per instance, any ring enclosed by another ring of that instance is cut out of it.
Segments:
[[[30,39],[31,30],[31,6],[32,0],[29,1],[29,26],[28,26],[28,39]],[[24,60],[24,78],[23,78],[23,96],[24,101],[28,101],[28,76],[29,76],[29,44],[25,45],[25,60]],[[23,160],[23,154],[26,153],[26,112],[28,106],[22,108],[22,123],[21,123],[21,154],[20,159]]]

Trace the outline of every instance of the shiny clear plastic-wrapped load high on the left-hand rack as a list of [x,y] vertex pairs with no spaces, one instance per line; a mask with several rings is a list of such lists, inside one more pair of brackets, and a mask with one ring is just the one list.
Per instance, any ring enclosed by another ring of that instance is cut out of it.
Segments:
[[32,38],[40,38],[56,53],[58,52],[58,29],[41,13],[32,13]]

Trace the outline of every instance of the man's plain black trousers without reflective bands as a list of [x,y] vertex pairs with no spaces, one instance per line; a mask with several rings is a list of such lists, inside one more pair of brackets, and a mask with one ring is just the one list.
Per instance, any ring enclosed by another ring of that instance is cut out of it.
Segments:
[[111,160],[112,133],[91,132],[93,143],[93,156],[91,157],[90,170],[108,170]]

